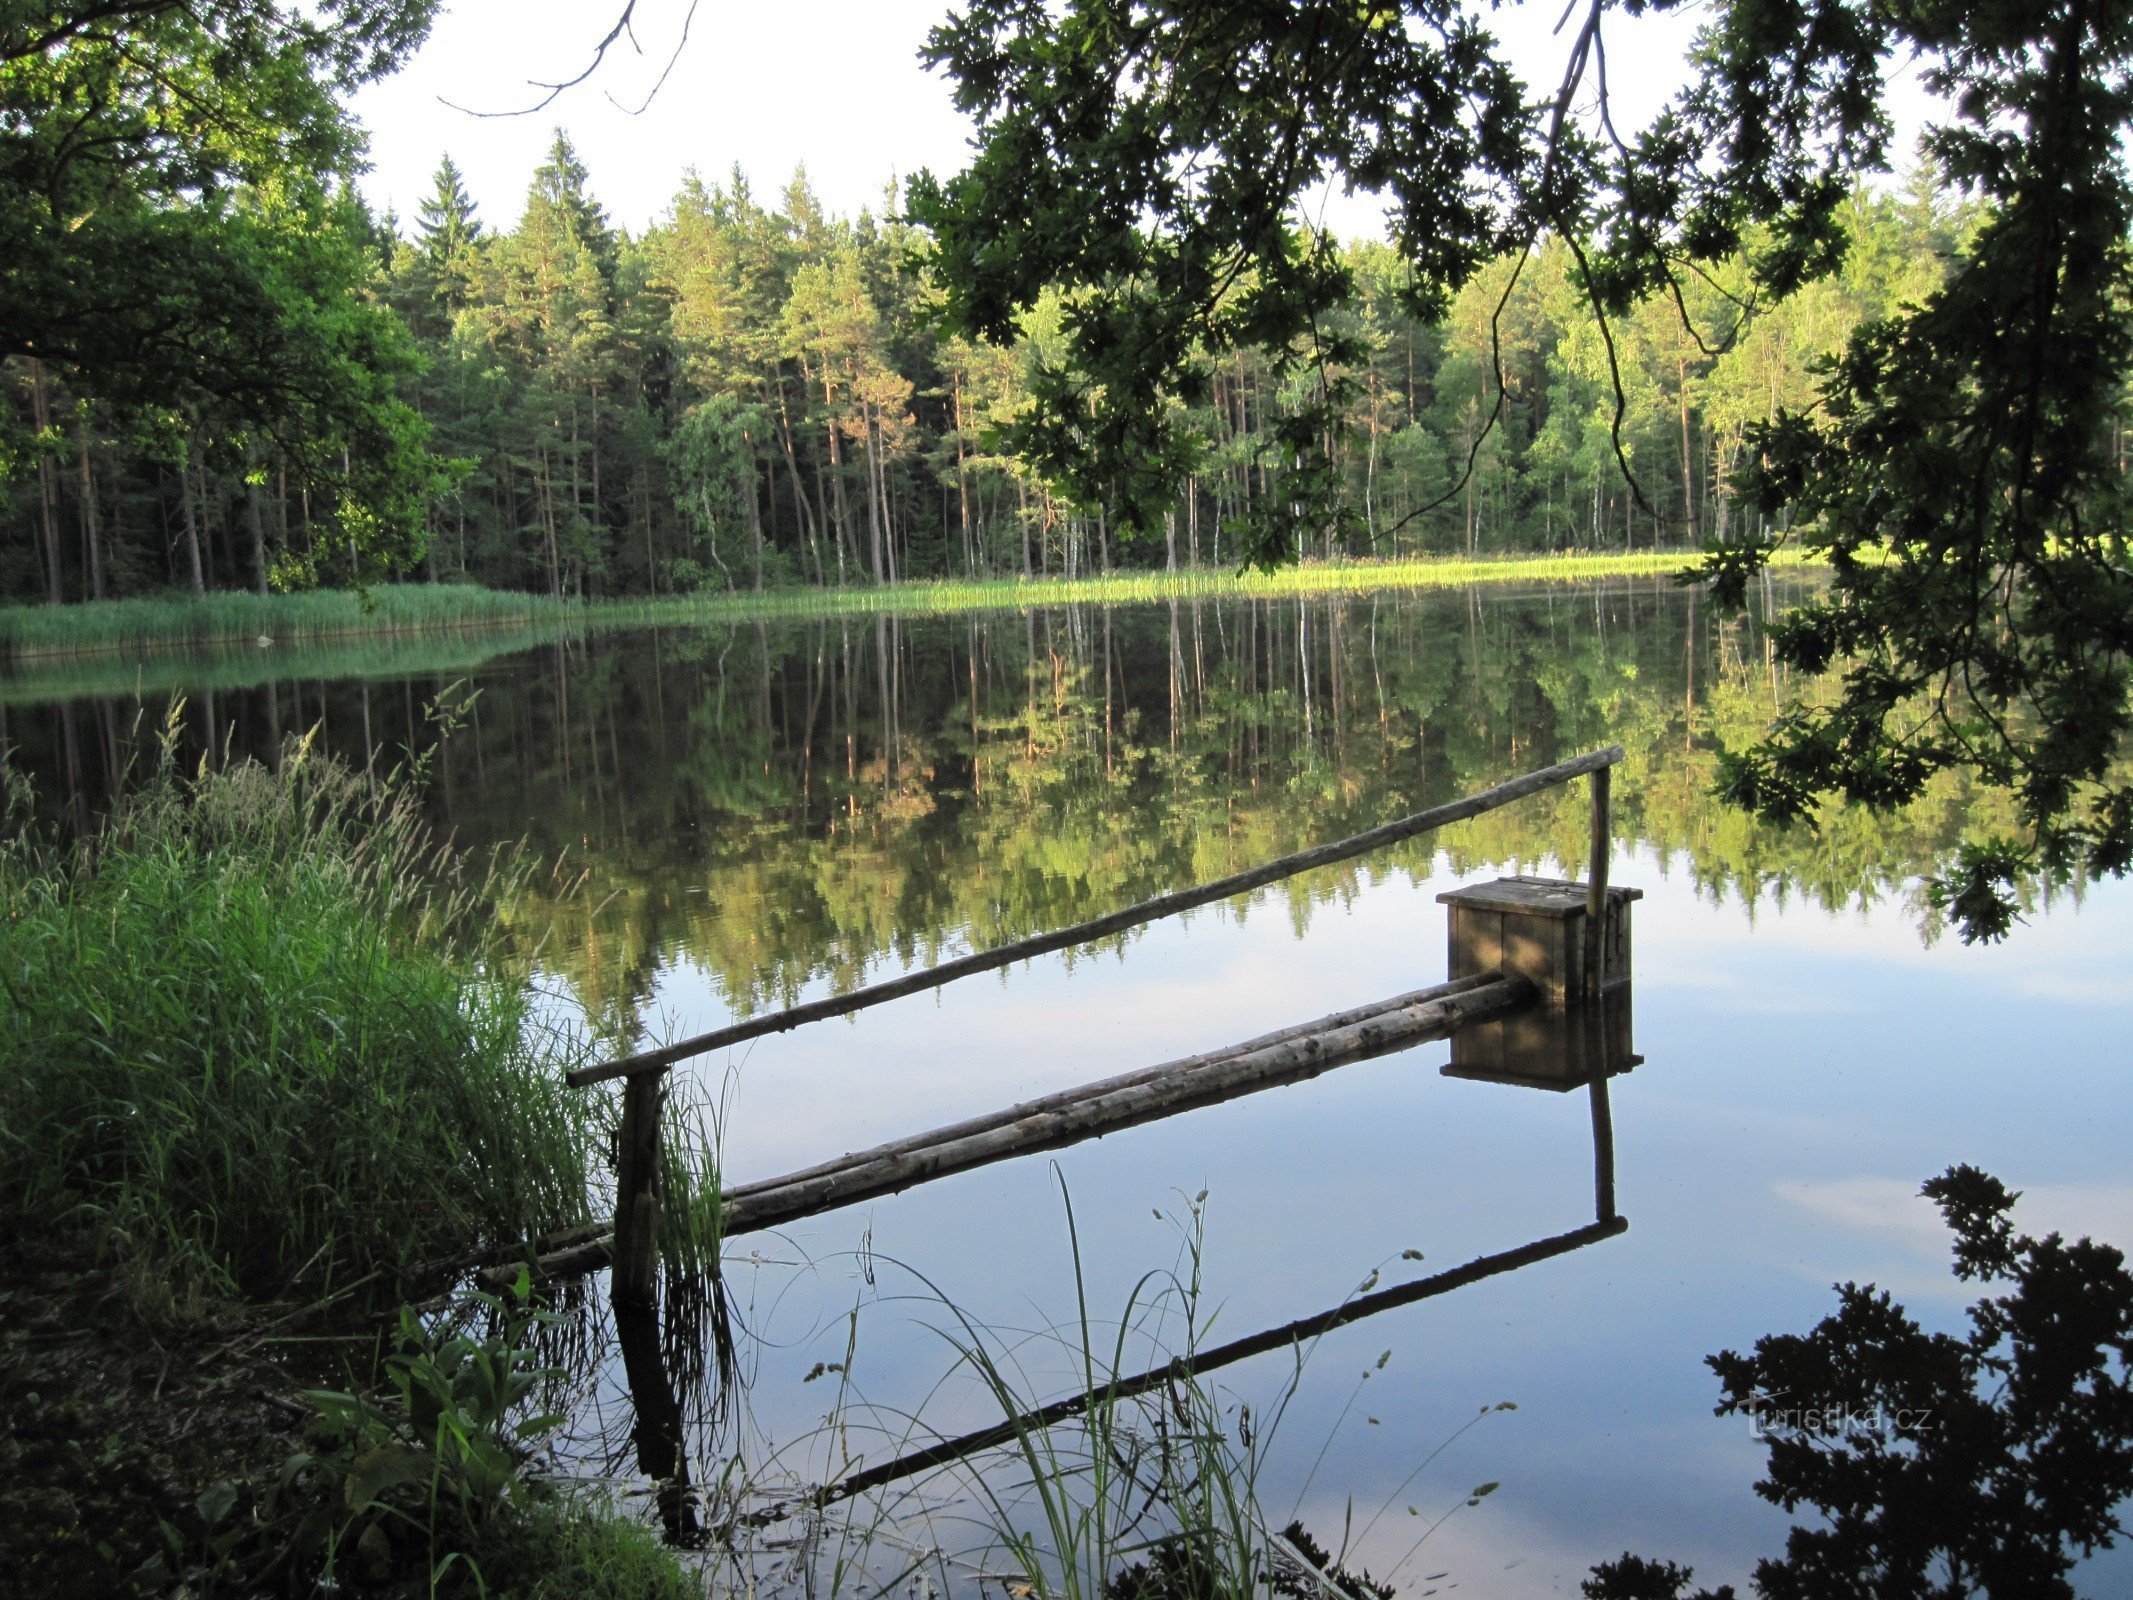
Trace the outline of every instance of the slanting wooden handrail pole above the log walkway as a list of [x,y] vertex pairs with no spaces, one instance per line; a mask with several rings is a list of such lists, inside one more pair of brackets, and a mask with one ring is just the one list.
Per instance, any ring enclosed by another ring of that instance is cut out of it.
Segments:
[[960,977],[971,977],[975,973],[992,973],[1000,966],[1013,966],[1015,962],[1030,960],[1032,956],[1049,956],[1056,949],[1069,949],[1071,945],[1086,945],[1092,939],[1109,939],[1111,934],[1126,932],[1128,928],[1141,928],[1150,922],[1160,922],[1162,917],[1175,917],[1180,911],[1192,911],[1194,907],[1214,905],[1216,900],[1226,900],[1233,894],[1248,894],[1250,890],[1265,887],[1267,883],[1280,883],[1297,873],[1310,873],[1316,866],[1333,866],[1335,862],[1354,860],[1374,849],[1386,845],[1397,845],[1404,838],[1414,838],[1416,834],[1427,834],[1433,828],[1446,828],[1455,821],[1465,821],[1468,817],[1478,817],[1497,806],[1508,806],[1512,800],[1523,800],[1540,789],[1551,789],[1559,783],[1585,777],[1587,772],[1604,774],[1608,766],[1623,759],[1621,745],[1608,745],[1606,749],[1589,751],[1576,755],[1568,762],[1557,762],[1555,766],[1544,766],[1538,772],[1527,772],[1523,777],[1510,779],[1508,783],[1497,783],[1493,789],[1482,789],[1480,794],[1470,794],[1463,800],[1453,800],[1450,804],[1431,806],[1429,811],[1416,811],[1412,817],[1401,817],[1399,821],[1389,821],[1367,832],[1354,834],[1350,838],[1337,838],[1331,845],[1316,845],[1295,855],[1282,855],[1263,866],[1254,866],[1248,873],[1235,873],[1212,883],[1201,883],[1190,890],[1173,890],[1171,894],[1158,894],[1152,900],[1141,900],[1139,905],[1111,911],[1103,917],[1090,922],[1077,922],[1071,928],[1058,928],[1047,934],[1035,934],[1030,939],[1017,939],[1009,945],[996,949],[981,949],[968,956],[958,956],[956,960],[941,962],[939,966],[928,966],[917,973],[904,973],[902,977],[892,977],[885,983],[868,983],[864,988],[851,990],[849,994],[832,994],[821,1001],[806,1001],[804,1005],[787,1007],[785,1011],[772,1011],[761,1018],[749,1018],[747,1022],[732,1022],[723,1028],[712,1028],[710,1033],[700,1033],[693,1039],[680,1039],[672,1045],[661,1045],[659,1050],[644,1050],[636,1056],[623,1056],[621,1060],[602,1062],[597,1067],[578,1067],[567,1073],[567,1079],[578,1088],[587,1084],[604,1084],[612,1077],[631,1077],[636,1073],[663,1073],[678,1060],[689,1060],[691,1056],[702,1056],[710,1050],[721,1050],[725,1045],[738,1045],[749,1039],[761,1039],[770,1033],[787,1033],[804,1022],[821,1022],[823,1018],[843,1018],[853,1011],[866,1011],[868,1007],[881,1005],[885,1001],[898,1001],[907,994],[924,994],[926,990],[936,990],[953,983]]

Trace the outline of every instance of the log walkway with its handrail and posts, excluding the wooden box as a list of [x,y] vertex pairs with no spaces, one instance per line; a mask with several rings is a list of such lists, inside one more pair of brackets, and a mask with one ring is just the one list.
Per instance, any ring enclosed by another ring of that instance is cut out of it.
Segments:
[[[868,983],[866,988],[836,994],[823,1001],[774,1011],[725,1028],[695,1035],[659,1050],[646,1050],[599,1067],[584,1067],[570,1075],[572,1084],[602,1084],[614,1077],[623,1086],[623,1126],[616,1161],[616,1210],[610,1233],[587,1231],[584,1237],[557,1239],[548,1254],[535,1263],[544,1276],[567,1276],[614,1265],[614,1299],[619,1303],[651,1303],[657,1278],[657,1233],[659,1233],[659,1111],[663,1075],[691,1056],[702,1056],[723,1045],[759,1039],[770,1033],[785,1033],[806,1022],[851,1015],[868,1007],[896,1001],[907,994],[921,994],[953,983],[960,977],[998,971],[1032,956],[1045,956],[1096,939],[1109,939],[1141,928],[1162,917],[1192,911],[1194,907],[1226,900],[1235,894],[1258,890],[1267,883],[1308,873],[1316,866],[1331,866],[1365,855],[1386,845],[1446,828],[1470,817],[1478,817],[1512,800],[1540,794],[1572,779],[1591,774],[1591,883],[1587,890],[1583,975],[1587,994],[1598,994],[1604,941],[1600,928],[1608,907],[1606,858],[1608,858],[1608,768],[1623,759],[1619,745],[1589,751],[1587,755],[1557,762],[1555,766],[1527,772],[1480,794],[1453,800],[1450,804],[1416,811],[1412,817],[1389,821],[1380,828],[1316,845],[1293,855],[1235,873],[1190,890],[1158,894],[1152,900],[1113,911],[1071,928],[1020,939],[996,949],[973,951],[956,960],[928,966],[917,973]],[[1619,898],[1619,894],[1617,894]],[[1250,1094],[1280,1084],[1295,1084],[1316,1077],[1333,1067],[1367,1060],[1393,1050],[1444,1039],[1455,1030],[1489,1018],[1504,1018],[1534,998],[1527,977],[1510,971],[1512,962],[1502,962],[1502,971],[1476,973],[1438,983],[1427,990],[1380,1001],[1354,1011],[1340,1011],[1316,1022],[1250,1039],[1226,1050],[1184,1060],[1162,1062],[1120,1077],[1109,1077],[1081,1088],[1047,1094],[1037,1101],[1007,1107],[981,1118],[971,1118],[945,1129],[896,1139],[875,1150],[862,1150],[838,1161],[811,1167],[806,1171],[770,1178],[727,1190],[723,1197],[723,1225],[729,1235],[749,1233],[783,1222],[813,1216],[815,1212],[851,1205],[862,1199],[889,1195],[913,1184],[971,1171],[994,1161],[1007,1161],[1037,1150],[1056,1150],[1081,1139],[1126,1129],[1156,1118],[1175,1116],[1201,1105],[1216,1105],[1239,1094]],[[495,1269],[497,1278],[514,1269]]]

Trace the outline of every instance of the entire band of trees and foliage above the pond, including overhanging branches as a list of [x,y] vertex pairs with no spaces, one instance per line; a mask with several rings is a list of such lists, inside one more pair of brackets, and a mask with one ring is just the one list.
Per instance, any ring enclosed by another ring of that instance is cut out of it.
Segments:
[[[930,53],[979,149],[909,218],[734,175],[631,239],[559,137],[510,233],[446,162],[401,241],[348,198],[335,92],[427,15],[9,13],[0,593],[1642,540],[1709,544],[1738,597],[1798,538],[1837,582],[1779,649],[1854,668],[1736,800],[1982,772],[2020,806],[1937,873],[1964,937],[2026,875],[2133,864],[2122,9],[1730,0],[1625,134],[1606,0],[1544,92],[1463,0],[975,0]],[[1898,55],[1945,96],[1932,179],[1866,201]],[[1303,222],[1329,181],[1391,243]]]

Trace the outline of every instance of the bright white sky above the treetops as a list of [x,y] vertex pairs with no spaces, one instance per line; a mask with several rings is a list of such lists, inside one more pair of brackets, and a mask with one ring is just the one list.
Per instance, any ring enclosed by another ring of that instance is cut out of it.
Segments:
[[[968,124],[945,79],[917,51],[951,0],[700,0],[687,45],[665,87],[638,105],[668,58],[689,0],[638,0],[642,53],[621,41],[587,83],[546,111],[533,79],[584,68],[623,0],[459,0],[395,79],[363,90],[354,109],[371,132],[365,194],[412,224],[437,158],[450,151],[467,175],[482,222],[508,228],[527,181],[563,126],[591,171],[593,194],[614,222],[640,233],[659,220],[695,166],[723,179],[740,162],[755,192],[774,201],[798,164],[834,213],[881,209],[892,175],[964,164]],[[1510,6],[1499,32],[1534,81],[1557,81],[1568,47],[1551,38],[1561,0]],[[1638,126],[1674,87],[1700,6],[1659,19],[1608,23],[1608,81],[1617,126]],[[621,105],[616,105],[621,102]],[[1337,233],[1378,230],[1380,207],[1333,196],[1325,222]]]

